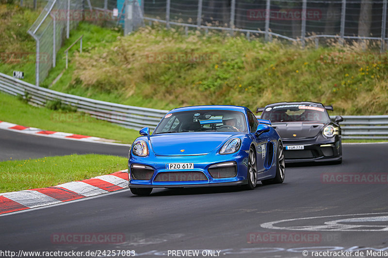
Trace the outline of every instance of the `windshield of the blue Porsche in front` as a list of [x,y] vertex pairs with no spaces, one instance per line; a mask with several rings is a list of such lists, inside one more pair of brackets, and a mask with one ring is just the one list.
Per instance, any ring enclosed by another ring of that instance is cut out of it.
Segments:
[[245,115],[232,110],[190,110],[170,113],[164,116],[153,135],[181,132],[246,133]]

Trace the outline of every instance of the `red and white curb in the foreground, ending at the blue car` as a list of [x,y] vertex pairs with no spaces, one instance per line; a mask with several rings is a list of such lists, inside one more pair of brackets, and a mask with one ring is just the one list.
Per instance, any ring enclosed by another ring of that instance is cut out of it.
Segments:
[[56,186],[0,194],[0,214],[18,212],[128,188],[128,169]]

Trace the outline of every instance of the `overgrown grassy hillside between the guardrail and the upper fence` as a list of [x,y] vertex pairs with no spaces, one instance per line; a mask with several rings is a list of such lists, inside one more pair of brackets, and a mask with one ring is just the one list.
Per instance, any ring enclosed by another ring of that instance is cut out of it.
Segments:
[[64,75],[53,89],[161,109],[226,104],[255,110],[278,101],[311,100],[332,104],[334,114],[385,114],[387,55],[361,49],[335,44],[301,49],[146,27],[76,54],[72,75]]

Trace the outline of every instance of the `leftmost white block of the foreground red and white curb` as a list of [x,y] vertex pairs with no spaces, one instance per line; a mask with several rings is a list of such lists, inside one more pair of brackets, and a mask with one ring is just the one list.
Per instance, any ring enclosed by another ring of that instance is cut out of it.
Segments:
[[61,203],[60,200],[49,197],[45,194],[34,190],[24,190],[19,192],[5,193],[2,196],[16,201],[29,208],[35,208],[39,206],[46,206],[49,204]]

